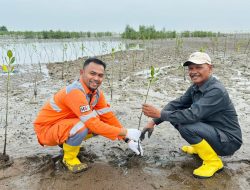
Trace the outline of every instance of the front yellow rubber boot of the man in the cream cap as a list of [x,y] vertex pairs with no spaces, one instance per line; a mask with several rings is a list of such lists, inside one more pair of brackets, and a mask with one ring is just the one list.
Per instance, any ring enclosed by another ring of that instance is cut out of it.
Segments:
[[223,169],[223,163],[208,142],[203,139],[200,143],[192,145],[199,157],[203,160],[202,166],[195,169],[193,174],[197,178],[209,178]]

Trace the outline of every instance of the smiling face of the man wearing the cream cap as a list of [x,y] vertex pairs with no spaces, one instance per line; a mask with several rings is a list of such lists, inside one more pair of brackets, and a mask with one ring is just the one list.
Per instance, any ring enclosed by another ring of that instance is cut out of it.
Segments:
[[209,64],[190,64],[188,74],[194,84],[201,86],[212,74],[212,68],[212,65]]

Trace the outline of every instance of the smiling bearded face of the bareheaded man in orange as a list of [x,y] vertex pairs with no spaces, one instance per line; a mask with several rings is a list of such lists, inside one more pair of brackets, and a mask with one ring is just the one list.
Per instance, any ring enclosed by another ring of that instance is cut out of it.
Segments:
[[91,62],[84,69],[80,70],[83,82],[91,90],[96,90],[104,79],[104,67],[102,65]]

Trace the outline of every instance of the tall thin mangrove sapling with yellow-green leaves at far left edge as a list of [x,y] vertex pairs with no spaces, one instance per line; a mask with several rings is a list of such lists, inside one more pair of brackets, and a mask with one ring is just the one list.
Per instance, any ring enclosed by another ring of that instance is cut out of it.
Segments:
[[[3,155],[6,156],[6,144],[7,144],[7,126],[8,126],[8,115],[9,115],[9,86],[10,86],[10,74],[14,71],[14,62],[15,57],[13,57],[13,53],[11,50],[7,51],[7,57],[5,58],[6,64],[2,65],[2,70],[7,73],[7,80],[6,80],[6,106],[5,106],[5,131],[4,131],[4,148],[3,148]],[[8,157],[9,160],[9,157]],[[8,161],[7,160],[7,161]]]

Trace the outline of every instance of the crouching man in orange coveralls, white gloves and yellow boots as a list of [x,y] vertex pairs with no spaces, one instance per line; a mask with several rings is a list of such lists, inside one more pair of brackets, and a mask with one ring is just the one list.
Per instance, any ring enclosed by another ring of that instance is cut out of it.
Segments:
[[80,70],[80,79],[58,91],[47,101],[34,121],[41,145],[63,147],[63,164],[73,173],[88,168],[77,158],[80,144],[93,134],[124,140],[137,155],[143,153],[141,131],[122,127],[107,104],[101,85],[106,64],[89,58]]

